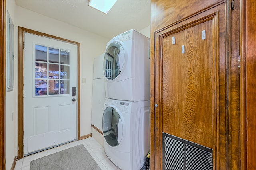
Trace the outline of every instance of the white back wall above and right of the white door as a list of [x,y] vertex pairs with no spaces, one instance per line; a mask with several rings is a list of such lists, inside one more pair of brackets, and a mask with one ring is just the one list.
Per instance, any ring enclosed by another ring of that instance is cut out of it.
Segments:
[[[91,133],[93,59],[104,53],[108,39],[16,6],[16,26],[80,43],[80,136]],[[82,83],[86,78],[86,83]]]

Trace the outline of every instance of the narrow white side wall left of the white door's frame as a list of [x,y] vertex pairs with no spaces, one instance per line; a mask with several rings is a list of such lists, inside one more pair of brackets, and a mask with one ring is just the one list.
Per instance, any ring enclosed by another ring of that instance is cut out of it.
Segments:
[[[6,9],[8,10],[14,26],[16,26],[16,5],[15,1],[7,0]],[[7,12],[6,12],[7,17]],[[14,42],[18,42],[17,27],[14,28]],[[6,127],[6,170],[10,170],[14,158],[18,154],[18,56],[17,43],[14,44],[14,89],[6,92],[6,108],[5,108],[5,127]],[[6,60],[7,61],[7,60]],[[13,113],[12,113],[13,112]],[[13,114],[13,116],[12,116]]]

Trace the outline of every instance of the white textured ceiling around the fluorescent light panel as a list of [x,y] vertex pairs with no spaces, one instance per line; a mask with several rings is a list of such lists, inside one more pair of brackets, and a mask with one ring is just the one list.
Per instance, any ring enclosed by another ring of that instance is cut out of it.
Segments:
[[108,14],[89,7],[88,0],[15,1],[23,8],[110,39],[150,25],[150,0],[117,0]]

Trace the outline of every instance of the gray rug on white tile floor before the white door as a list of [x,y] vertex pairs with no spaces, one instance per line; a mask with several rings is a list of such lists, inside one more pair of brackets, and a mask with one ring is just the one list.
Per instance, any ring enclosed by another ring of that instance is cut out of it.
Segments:
[[31,161],[30,170],[100,170],[100,167],[81,144]]

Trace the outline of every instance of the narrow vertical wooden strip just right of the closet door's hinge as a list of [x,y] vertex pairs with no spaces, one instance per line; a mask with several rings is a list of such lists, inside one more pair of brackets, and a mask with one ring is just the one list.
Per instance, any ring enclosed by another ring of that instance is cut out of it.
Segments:
[[230,58],[230,156],[231,170],[240,169],[240,0],[235,0],[231,10],[231,58]]

